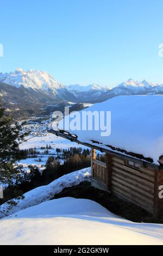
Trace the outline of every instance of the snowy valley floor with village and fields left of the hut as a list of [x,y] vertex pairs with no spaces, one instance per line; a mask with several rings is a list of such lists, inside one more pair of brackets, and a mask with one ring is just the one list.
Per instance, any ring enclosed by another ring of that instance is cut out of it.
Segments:
[[[22,133],[27,132],[29,134],[25,141],[20,144],[20,149],[28,152],[26,159],[21,159],[15,164],[15,168],[18,168],[20,173],[30,173],[31,168],[39,169],[39,172],[42,173],[46,168],[49,156],[54,156],[55,160],[62,164],[64,162],[62,150],[81,147],[75,142],[70,142],[48,132],[54,124],[51,116],[49,118],[45,116],[23,120],[26,123],[23,125]],[[82,148],[86,147],[82,146]]]

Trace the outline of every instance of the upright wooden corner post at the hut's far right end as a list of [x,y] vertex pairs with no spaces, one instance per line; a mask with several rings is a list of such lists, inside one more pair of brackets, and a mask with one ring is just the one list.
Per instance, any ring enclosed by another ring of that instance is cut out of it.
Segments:
[[163,198],[161,186],[163,185],[163,169],[155,170],[154,176],[154,208],[153,215],[155,218],[163,218]]

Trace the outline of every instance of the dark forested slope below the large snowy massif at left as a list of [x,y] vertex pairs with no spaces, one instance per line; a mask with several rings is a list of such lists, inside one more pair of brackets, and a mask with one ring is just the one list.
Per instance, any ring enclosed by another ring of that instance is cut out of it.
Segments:
[[46,105],[61,102],[46,93],[24,87],[16,88],[5,83],[0,83],[0,96],[6,113],[16,119],[40,114],[43,112],[41,108]]

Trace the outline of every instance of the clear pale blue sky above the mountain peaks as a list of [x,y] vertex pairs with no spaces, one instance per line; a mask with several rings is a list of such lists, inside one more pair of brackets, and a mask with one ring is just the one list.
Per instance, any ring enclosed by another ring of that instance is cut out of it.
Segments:
[[0,72],[38,69],[64,84],[163,83],[162,0],[1,1]]

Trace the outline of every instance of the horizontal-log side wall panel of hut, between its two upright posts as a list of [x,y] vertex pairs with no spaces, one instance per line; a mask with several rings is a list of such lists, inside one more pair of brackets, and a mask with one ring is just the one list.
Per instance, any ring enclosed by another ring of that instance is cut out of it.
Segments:
[[119,157],[112,157],[111,168],[112,192],[153,213],[155,171],[143,166],[140,170],[130,168]]

